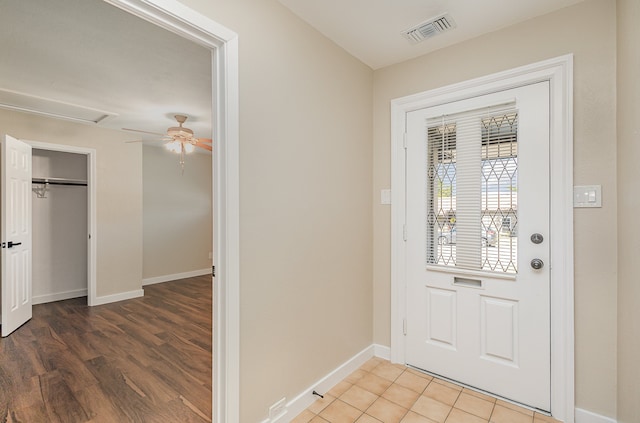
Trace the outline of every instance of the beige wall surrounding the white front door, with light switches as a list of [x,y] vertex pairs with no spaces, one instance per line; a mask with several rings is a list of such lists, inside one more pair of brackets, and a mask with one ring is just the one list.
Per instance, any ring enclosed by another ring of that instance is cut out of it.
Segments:
[[[576,406],[616,409],[616,8],[587,0],[374,73],[373,195],[390,186],[391,99],[574,53],[574,182],[601,184],[576,209]],[[390,208],[374,204],[374,341],[390,342]]]

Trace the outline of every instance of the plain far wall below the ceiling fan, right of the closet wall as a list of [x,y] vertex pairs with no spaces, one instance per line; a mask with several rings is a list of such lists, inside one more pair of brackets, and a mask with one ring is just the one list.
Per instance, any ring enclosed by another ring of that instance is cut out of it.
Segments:
[[211,268],[211,155],[142,148],[144,279]]

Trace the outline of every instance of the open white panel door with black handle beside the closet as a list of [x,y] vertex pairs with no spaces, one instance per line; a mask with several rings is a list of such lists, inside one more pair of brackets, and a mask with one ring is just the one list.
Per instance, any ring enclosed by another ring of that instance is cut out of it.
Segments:
[[2,336],[31,319],[31,146],[0,139]]

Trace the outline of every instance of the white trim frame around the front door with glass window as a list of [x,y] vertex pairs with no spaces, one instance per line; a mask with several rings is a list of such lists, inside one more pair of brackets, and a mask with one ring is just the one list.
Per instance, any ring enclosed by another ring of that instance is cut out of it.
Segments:
[[549,81],[551,412],[574,421],[573,55],[533,63],[391,101],[391,361],[405,363],[408,112]]

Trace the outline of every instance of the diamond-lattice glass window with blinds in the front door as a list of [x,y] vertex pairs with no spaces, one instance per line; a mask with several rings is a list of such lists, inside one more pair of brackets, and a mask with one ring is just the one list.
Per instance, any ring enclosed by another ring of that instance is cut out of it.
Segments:
[[427,264],[517,273],[518,112],[427,121]]

